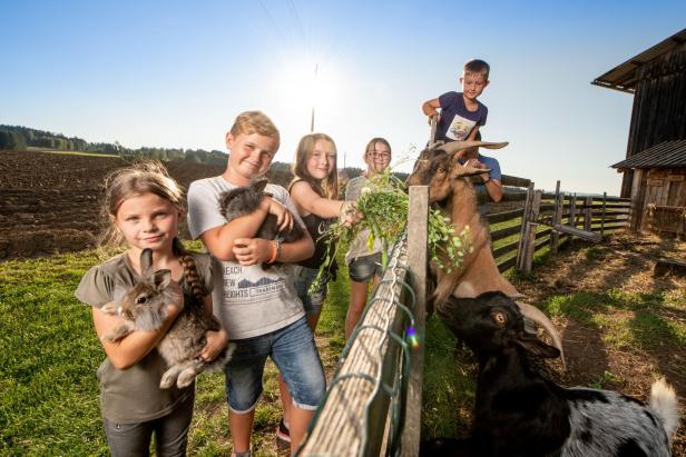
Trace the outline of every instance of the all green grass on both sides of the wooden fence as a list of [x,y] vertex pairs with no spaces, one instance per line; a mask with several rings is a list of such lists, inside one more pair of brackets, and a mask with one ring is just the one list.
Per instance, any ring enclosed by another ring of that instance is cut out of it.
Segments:
[[[588,262],[605,261],[598,259],[597,248],[585,248],[580,256]],[[0,455],[107,455],[95,375],[104,352],[89,308],[74,297],[81,275],[98,262],[95,251],[82,251],[0,264]],[[347,288],[343,268],[331,286],[317,328],[329,375],[345,342]],[[553,318],[597,331],[602,344],[618,352],[686,347],[684,290],[637,294],[609,287],[551,294],[537,305]],[[476,367],[470,354],[455,350],[454,338],[435,317],[429,320],[427,335],[422,434],[455,436],[469,425]],[[686,378],[683,366],[669,369]],[[616,376],[601,371],[588,384],[602,387]],[[190,455],[231,450],[226,417],[223,377],[199,376]],[[274,430],[280,417],[276,370],[268,365],[253,435],[255,455],[276,454]]]

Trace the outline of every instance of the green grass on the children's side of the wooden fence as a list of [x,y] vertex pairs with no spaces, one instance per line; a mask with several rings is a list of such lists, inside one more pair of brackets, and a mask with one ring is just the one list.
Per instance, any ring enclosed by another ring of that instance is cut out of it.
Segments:
[[[84,272],[100,262],[95,251],[0,262],[0,455],[108,455],[96,377],[105,354],[90,308],[74,297]],[[345,342],[349,285],[344,269],[339,276],[317,327],[329,342],[321,354],[330,366]],[[274,455],[282,415],[272,362],[264,386],[253,434],[256,456]],[[198,377],[190,455],[231,451],[225,398],[223,375]]]

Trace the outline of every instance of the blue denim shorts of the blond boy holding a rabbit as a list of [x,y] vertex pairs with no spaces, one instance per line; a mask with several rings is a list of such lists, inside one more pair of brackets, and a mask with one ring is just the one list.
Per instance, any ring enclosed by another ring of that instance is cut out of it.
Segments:
[[316,409],[324,398],[326,379],[305,317],[271,334],[233,342],[236,350],[224,369],[226,400],[232,411],[245,414],[255,408],[263,390],[267,356],[288,386],[293,404],[302,409]]

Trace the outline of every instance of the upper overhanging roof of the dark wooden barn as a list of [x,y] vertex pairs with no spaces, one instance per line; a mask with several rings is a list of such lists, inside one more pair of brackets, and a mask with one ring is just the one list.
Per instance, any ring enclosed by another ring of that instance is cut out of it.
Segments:
[[618,67],[615,67],[607,73],[599,76],[591,81],[591,85],[606,87],[610,89],[621,90],[623,92],[634,93],[636,90],[636,70],[644,63],[669,52],[686,42],[686,29],[676,32],[666,40],[660,41],[653,48],[647,49],[636,57],[627,60]]

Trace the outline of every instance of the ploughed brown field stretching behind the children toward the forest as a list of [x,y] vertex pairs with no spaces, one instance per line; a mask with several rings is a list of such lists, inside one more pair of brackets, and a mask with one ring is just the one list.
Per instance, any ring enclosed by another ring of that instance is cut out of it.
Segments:
[[[102,181],[122,166],[111,157],[0,151],[0,260],[94,247]],[[199,163],[167,167],[185,189],[224,171]]]

